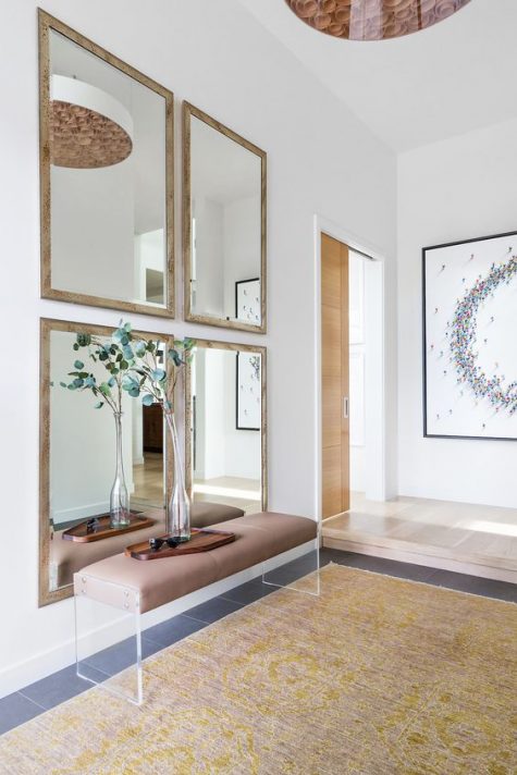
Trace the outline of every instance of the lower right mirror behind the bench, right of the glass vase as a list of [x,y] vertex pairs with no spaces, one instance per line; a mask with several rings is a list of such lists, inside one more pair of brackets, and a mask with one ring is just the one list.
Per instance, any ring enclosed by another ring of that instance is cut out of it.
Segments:
[[266,347],[196,340],[185,386],[186,481],[194,504],[266,510]]

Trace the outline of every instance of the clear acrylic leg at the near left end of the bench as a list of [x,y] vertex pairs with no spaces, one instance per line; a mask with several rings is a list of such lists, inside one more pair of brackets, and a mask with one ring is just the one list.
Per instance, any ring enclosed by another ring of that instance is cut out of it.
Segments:
[[[75,665],[79,678],[140,705],[141,626],[138,601],[133,602],[133,611],[124,612],[81,593],[74,595]],[[107,627],[99,629],[98,624],[110,618],[121,640],[107,647]]]

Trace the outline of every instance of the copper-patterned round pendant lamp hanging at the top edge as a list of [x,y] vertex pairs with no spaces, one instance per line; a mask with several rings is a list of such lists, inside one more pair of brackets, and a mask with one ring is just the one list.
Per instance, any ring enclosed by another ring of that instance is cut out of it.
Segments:
[[398,38],[431,27],[470,0],[285,0],[306,24],[348,40]]

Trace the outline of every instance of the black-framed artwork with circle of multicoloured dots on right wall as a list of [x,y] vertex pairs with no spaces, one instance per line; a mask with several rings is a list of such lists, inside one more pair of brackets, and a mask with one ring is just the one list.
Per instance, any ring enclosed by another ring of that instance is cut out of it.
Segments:
[[517,232],[422,250],[423,435],[517,440]]

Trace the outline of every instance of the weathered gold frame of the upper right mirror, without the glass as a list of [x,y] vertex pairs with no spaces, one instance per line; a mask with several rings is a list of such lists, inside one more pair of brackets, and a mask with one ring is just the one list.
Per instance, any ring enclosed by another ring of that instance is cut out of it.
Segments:
[[[190,143],[190,120],[192,116],[199,119],[211,126],[217,132],[220,132],[225,137],[234,140],[238,145],[255,153],[261,161],[261,181],[260,181],[260,309],[261,321],[260,325],[250,325],[249,323],[238,322],[237,320],[227,320],[224,318],[216,318],[208,315],[196,315],[192,311],[192,143]],[[195,108],[189,102],[183,102],[183,291],[184,291],[184,313],[185,320],[193,323],[202,323],[206,325],[218,325],[225,329],[234,329],[238,331],[250,331],[257,334],[267,333],[268,321],[268,276],[267,276],[267,212],[268,212],[268,155],[266,151],[258,148],[249,140],[237,135],[236,132],[230,130],[224,124],[221,124],[211,115],[205,113],[199,108]]]

